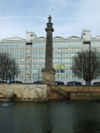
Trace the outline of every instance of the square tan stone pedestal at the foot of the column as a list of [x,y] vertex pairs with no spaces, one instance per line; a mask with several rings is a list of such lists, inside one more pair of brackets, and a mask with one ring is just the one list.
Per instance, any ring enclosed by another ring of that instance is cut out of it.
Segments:
[[55,70],[42,70],[42,78],[43,83],[48,85],[54,85],[55,84]]

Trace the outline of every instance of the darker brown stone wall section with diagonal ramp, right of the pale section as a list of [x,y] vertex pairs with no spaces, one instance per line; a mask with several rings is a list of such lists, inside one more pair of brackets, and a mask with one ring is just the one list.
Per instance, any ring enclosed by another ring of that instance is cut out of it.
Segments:
[[[67,100],[100,100],[99,86],[48,86],[50,99],[63,99],[57,91],[65,93]],[[62,94],[63,94],[62,93]]]

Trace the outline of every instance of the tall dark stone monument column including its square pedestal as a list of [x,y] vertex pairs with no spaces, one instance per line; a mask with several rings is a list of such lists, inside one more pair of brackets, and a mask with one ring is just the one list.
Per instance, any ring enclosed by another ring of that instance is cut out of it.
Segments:
[[51,16],[48,17],[46,35],[46,55],[45,55],[45,68],[42,70],[43,82],[45,84],[55,84],[55,70],[53,69],[53,43],[52,32],[54,31],[51,23]]

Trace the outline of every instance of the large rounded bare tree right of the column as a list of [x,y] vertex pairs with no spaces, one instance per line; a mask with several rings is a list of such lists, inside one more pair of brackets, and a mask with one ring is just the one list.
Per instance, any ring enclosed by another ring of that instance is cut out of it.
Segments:
[[86,81],[86,85],[91,85],[91,80],[100,76],[100,59],[96,51],[78,52],[73,57],[72,72],[79,78]]

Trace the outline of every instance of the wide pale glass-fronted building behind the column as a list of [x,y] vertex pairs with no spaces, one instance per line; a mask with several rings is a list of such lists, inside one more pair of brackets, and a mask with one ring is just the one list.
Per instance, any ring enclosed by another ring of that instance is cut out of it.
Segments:
[[[84,40],[91,41],[91,49],[100,52],[100,36],[91,37],[91,32],[84,30],[81,37],[72,36],[63,38],[56,36],[53,38],[53,67],[56,70],[56,81],[81,81],[73,75],[72,58],[82,50],[89,49],[89,45],[84,45]],[[33,83],[42,81],[42,69],[45,66],[46,38],[37,37],[34,32],[27,32],[26,38],[19,37],[6,38],[0,41],[0,52],[8,52],[15,58],[19,67],[19,75],[16,81],[23,83]],[[100,78],[95,79],[100,81]]]

